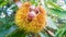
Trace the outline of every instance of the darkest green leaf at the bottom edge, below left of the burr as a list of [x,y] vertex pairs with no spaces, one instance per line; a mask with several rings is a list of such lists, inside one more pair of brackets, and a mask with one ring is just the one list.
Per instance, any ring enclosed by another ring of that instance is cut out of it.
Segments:
[[11,34],[7,35],[7,37],[25,37],[24,30],[20,30],[19,28],[12,32]]

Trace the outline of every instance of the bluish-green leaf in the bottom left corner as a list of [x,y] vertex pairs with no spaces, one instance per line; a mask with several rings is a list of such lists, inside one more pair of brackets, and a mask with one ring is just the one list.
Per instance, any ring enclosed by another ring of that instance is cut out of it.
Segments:
[[10,28],[2,28],[0,30],[0,37],[6,37],[6,35],[12,33],[13,30],[15,30],[16,27],[15,26],[11,26]]

